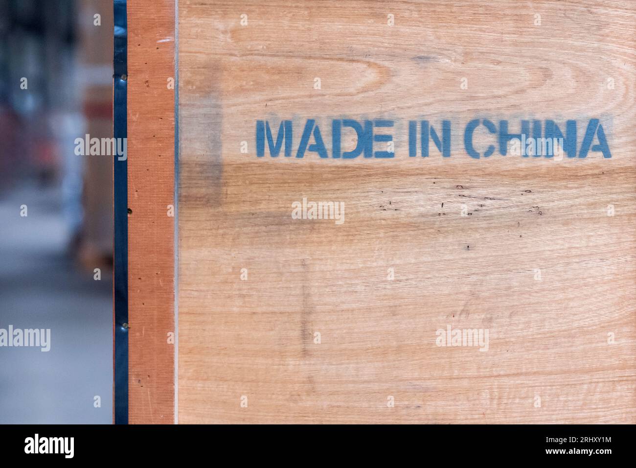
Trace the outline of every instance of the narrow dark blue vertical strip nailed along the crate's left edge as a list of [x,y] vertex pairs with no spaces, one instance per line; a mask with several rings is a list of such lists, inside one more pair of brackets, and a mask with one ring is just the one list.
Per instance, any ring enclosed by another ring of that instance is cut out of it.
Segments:
[[[113,136],[127,138],[126,0],[114,0]],[[128,163],[114,157],[114,423],[128,423]]]

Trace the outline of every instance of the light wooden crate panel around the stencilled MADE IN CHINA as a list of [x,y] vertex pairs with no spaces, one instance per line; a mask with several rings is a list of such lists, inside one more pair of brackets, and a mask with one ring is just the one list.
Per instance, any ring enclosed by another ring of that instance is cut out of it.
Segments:
[[[181,0],[178,22],[179,422],[636,422],[635,4]],[[342,117],[396,120],[396,158],[256,157],[257,119],[296,148]],[[478,117],[598,117],[612,158],[471,159]],[[408,157],[418,118],[452,120],[452,157]],[[292,219],[303,196],[345,222]],[[436,346],[447,325],[488,351]]]

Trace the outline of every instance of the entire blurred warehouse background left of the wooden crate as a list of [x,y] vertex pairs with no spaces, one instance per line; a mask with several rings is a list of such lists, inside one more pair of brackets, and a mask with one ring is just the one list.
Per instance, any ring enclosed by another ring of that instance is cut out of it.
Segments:
[[112,422],[113,157],[74,151],[112,111],[112,0],[0,0],[0,329],[51,329],[0,347],[0,423]]

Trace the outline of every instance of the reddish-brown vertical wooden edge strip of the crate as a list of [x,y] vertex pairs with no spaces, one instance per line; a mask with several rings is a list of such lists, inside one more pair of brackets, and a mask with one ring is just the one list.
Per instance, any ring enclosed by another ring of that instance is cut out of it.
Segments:
[[128,421],[174,423],[174,1],[128,0]]

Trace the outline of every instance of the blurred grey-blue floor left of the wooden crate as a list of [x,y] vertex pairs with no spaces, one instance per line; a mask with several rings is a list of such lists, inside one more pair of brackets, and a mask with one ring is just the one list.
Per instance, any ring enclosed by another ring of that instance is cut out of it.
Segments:
[[0,328],[51,329],[48,352],[0,347],[0,423],[112,422],[111,271],[95,281],[73,264],[60,198],[36,185],[0,194]]

